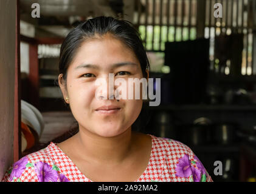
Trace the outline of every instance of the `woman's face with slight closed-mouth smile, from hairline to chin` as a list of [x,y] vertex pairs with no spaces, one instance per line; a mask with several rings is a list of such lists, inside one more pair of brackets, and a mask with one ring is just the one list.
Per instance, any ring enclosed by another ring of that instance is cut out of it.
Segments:
[[[115,64],[126,64],[116,65]],[[116,136],[125,132],[136,121],[142,109],[142,99],[128,99],[128,85],[123,85],[127,91],[126,99],[109,99],[107,92],[96,93],[100,85],[96,79],[103,78],[109,84],[109,73],[113,73],[114,81],[123,78],[143,78],[139,60],[133,50],[126,47],[119,39],[111,35],[91,39],[84,42],[78,49],[74,60],[67,69],[66,89],[60,82],[64,98],[68,96],[72,114],[79,124],[80,130],[88,130],[99,136]],[[113,83],[114,84],[114,83]],[[114,85],[114,91],[120,85]],[[135,88],[135,87],[134,87]],[[140,87],[140,94],[141,94]],[[133,90],[135,93],[135,89]],[[102,99],[100,96],[104,97]],[[97,110],[103,105],[116,105],[119,110],[106,113]]]

